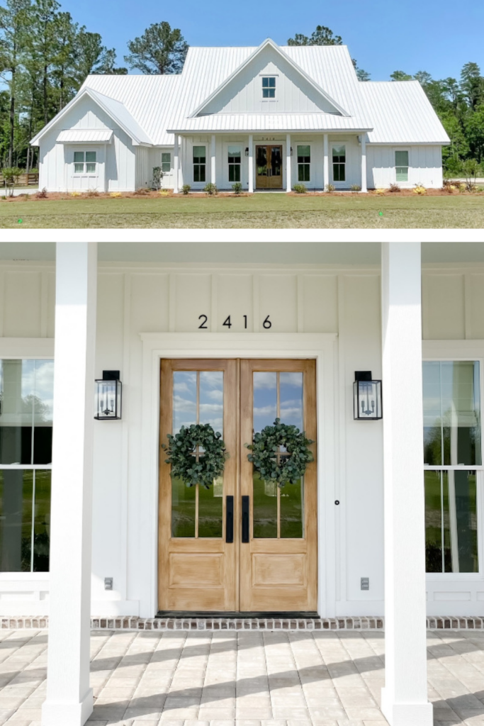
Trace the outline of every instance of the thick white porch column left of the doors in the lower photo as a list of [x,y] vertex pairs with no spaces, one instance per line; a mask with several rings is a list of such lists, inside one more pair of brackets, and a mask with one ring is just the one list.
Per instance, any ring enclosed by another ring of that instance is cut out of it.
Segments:
[[43,726],[82,726],[89,687],[97,242],[57,242],[47,693]]

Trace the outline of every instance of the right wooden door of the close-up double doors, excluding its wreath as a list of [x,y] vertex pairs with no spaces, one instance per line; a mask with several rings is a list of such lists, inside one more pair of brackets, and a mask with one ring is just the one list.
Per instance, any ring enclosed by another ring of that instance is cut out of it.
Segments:
[[[276,417],[316,440],[314,361],[242,361],[240,386],[241,451],[253,430],[261,431]],[[299,502],[298,485],[281,489],[261,482],[246,455],[240,473],[241,494],[250,497],[250,541],[240,545],[240,609],[315,611],[316,461],[299,486]]]

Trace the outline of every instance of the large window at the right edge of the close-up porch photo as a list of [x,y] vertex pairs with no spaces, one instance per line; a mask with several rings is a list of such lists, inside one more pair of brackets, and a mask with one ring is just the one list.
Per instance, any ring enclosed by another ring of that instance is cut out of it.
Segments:
[[479,571],[480,364],[423,364],[427,572]]

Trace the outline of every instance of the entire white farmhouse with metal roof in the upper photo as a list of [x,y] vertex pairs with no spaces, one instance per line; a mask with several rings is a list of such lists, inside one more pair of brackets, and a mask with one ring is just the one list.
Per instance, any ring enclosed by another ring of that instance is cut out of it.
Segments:
[[51,192],[442,186],[417,81],[358,81],[346,46],[190,48],[175,76],[88,76],[32,140]]

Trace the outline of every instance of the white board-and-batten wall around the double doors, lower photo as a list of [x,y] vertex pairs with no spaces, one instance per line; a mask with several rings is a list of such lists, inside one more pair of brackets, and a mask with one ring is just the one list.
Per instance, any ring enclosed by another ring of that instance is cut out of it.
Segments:
[[[422,297],[424,341],[444,340],[458,356],[469,341],[484,340],[484,266],[427,267]],[[0,357],[10,355],[12,341],[23,345],[26,338],[34,348],[42,341],[50,344],[52,265],[1,264],[0,299]],[[245,332],[244,315],[248,333],[260,332],[267,315],[274,333],[338,333],[339,443],[332,486],[341,504],[328,514],[335,528],[334,547],[319,554],[327,566],[328,591],[335,592],[334,609],[327,614],[382,614],[382,425],[353,420],[354,372],[381,375],[379,269],[200,264],[99,267],[96,372],[120,370],[123,420],[95,425],[93,613],[154,614],[147,587],[147,562],[156,547],[147,535],[152,510],[139,496],[145,465],[140,333],[184,333],[197,346],[204,335],[198,330],[200,314],[208,315],[214,333],[226,333],[222,324],[228,314],[235,333]],[[484,343],[480,346],[484,356]],[[383,391],[385,396],[385,382]],[[156,457],[156,452],[149,456]],[[481,518],[481,532],[483,524]],[[481,568],[484,574],[483,558]],[[427,578],[429,613],[478,614],[483,574],[443,575],[437,582]],[[114,578],[112,592],[104,591],[107,576]],[[363,576],[370,579],[367,592],[360,590]],[[0,574],[0,614],[45,613],[48,583],[43,574]]]

